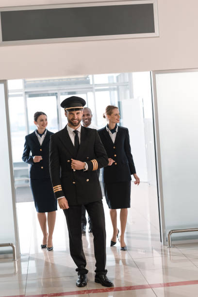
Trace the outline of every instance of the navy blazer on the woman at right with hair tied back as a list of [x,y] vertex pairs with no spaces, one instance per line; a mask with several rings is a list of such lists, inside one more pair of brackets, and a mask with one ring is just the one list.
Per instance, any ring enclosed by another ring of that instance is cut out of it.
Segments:
[[115,160],[111,166],[103,168],[102,181],[106,183],[131,181],[131,174],[136,171],[132,159],[129,130],[118,126],[115,143],[113,143],[106,126],[98,132],[108,158]]

